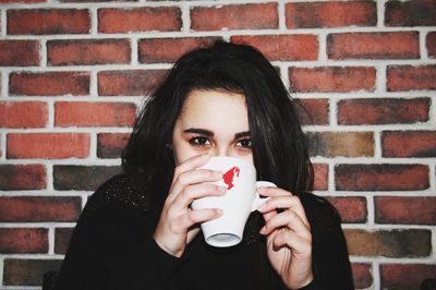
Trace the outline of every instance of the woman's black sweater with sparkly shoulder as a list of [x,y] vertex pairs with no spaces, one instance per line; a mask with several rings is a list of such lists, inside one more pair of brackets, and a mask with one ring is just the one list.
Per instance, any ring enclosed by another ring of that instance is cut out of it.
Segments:
[[[102,184],[88,200],[72,235],[57,289],[284,289],[252,214],[244,240],[217,249],[203,234],[181,258],[154,241],[159,218],[147,193],[126,176]],[[301,196],[312,228],[314,281],[305,289],[353,289],[347,243],[334,207],[313,194]]]

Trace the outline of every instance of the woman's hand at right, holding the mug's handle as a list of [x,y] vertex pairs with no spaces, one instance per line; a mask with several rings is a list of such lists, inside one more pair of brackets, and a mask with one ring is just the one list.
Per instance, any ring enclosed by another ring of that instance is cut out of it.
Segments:
[[[313,280],[311,226],[300,198],[278,188],[259,189],[270,200],[259,208],[267,237],[267,255],[272,268],[290,289],[298,289]],[[281,209],[281,210],[277,210]]]

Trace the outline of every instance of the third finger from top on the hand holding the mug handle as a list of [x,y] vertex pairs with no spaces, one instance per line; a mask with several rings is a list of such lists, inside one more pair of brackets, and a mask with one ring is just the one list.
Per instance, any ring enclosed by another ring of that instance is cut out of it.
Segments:
[[304,225],[300,216],[292,210],[286,210],[270,218],[262,228],[261,233],[268,235],[274,230],[283,227],[287,227],[303,238],[312,237],[310,229]]

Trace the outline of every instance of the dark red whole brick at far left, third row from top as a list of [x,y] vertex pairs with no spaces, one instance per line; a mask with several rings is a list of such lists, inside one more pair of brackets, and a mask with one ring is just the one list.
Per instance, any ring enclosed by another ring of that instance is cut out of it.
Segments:
[[88,72],[11,73],[9,92],[28,96],[88,95],[89,82]]

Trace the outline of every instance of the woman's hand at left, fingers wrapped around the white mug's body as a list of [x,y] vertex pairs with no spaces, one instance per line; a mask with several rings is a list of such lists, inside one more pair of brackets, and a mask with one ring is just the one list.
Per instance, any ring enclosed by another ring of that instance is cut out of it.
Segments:
[[171,189],[154,233],[156,243],[173,256],[182,256],[186,245],[198,233],[201,222],[222,215],[218,208],[190,208],[196,198],[226,193],[226,188],[210,183],[222,179],[222,172],[197,169],[209,158],[207,154],[194,156],[174,169]]

